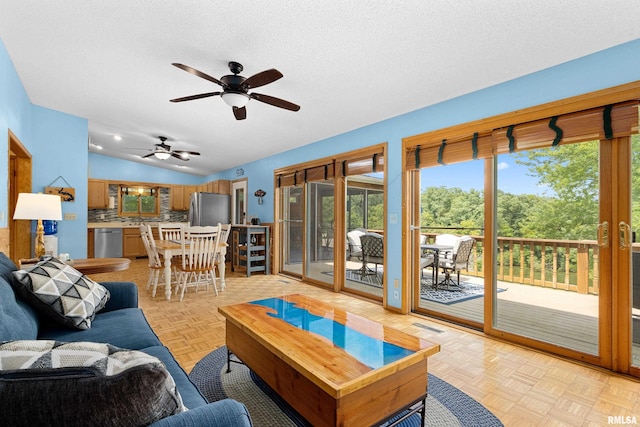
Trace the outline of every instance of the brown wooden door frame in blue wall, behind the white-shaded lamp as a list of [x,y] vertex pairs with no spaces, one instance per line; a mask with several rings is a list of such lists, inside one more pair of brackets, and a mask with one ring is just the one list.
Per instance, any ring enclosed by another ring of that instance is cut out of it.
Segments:
[[19,193],[32,192],[32,158],[31,153],[20,142],[18,137],[8,132],[8,188],[7,188],[7,224],[9,257],[18,262],[21,258],[31,258],[31,221],[14,221],[13,211]]

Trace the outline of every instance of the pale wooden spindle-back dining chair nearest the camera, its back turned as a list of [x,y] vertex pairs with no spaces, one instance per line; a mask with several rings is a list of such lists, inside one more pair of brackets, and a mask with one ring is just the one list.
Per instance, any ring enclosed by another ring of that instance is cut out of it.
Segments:
[[184,298],[187,287],[194,286],[196,292],[201,284],[213,289],[218,295],[216,286],[215,260],[220,249],[220,224],[217,226],[195,226],[184,229],[185,238],[181,241],[182,263],[178,264],[178,286],[180,301]]

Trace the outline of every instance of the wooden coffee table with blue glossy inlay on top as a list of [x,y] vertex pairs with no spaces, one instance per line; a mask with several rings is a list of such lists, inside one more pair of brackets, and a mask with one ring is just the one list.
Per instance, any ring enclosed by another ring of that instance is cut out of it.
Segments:
[[314,426],[375,425],[410,407],[424,417],[439,345],[297,294],[218,311],[229,351]]

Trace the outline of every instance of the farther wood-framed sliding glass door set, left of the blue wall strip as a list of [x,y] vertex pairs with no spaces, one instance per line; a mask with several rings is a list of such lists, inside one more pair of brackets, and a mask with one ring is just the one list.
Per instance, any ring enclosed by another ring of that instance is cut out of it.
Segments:
[[[381,144],[275,171],[279,272],[383,299],[385,149]],[[347,242],[354,230],[380,237],[376,260],[365,258],[359,236]]]

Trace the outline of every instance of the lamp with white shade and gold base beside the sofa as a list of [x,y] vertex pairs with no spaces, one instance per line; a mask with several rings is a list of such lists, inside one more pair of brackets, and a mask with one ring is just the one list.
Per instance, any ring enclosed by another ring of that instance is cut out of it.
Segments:
[[43,219],[61,220],[62,203],[57,194],[20,193],[13,219],[38,220],[36,229],[36,258],[44,255],[44,226]]

